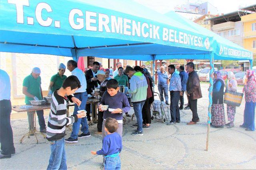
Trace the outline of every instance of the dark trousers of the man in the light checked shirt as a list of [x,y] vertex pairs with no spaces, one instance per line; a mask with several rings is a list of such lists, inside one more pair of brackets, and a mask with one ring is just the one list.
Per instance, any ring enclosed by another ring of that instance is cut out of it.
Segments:
[[170,91],[171,103],[170,103],[170,112],[171,112],[171,122],[180,121],[180,109],[179,109],[179,100],[180,92],[179,91]]

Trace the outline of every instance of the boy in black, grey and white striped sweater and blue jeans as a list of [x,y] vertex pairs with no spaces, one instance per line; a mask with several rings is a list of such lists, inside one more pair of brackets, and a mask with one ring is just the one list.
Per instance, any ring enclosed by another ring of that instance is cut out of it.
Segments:
[[[48,118],[48,125],[46,128],[46,139],[50,141],[51,155],[47,170],[52,169],[67,169],[66,153],[64,149],[64,136],[66,125],[70,125],[86,116],[85,112],[77,115],[66,117],[66,110],[68,99],[78,106],[81,101],[72,96],[78,88],[80,88],[80,81],[76,76],[69,76],[62,84],[62,87],[52,94],[52,102],[50,115]],[[66,97],[68,96],[68,97]]]

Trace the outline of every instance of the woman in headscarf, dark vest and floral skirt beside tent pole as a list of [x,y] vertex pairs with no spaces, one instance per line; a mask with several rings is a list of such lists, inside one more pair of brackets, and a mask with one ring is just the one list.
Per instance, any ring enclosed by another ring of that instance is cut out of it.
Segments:
[[224,80],[219,71],[214,71],[214,84],[212,89],[212,126],[224,127],[225,113],[223,104]]

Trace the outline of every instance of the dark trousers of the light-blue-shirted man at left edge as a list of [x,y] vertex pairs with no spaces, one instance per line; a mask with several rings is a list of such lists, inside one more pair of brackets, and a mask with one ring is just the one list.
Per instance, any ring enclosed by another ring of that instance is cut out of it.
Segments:
[[13,134],[10,122],[12,105],[10,100],[0,101],[0,143],[2,154],[9,155],[15,152]]

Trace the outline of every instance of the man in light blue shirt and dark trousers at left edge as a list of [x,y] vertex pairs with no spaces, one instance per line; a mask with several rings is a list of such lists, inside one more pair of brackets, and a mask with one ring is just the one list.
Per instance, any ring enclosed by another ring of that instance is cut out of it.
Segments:
[[7,72],[0,69],[0,159],[10,158],[15,154],[13,144],[13,133],[10,123],[12,112],[11,105],[11,84]]

